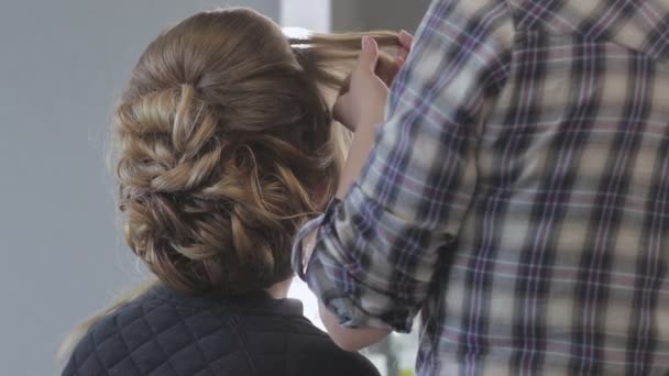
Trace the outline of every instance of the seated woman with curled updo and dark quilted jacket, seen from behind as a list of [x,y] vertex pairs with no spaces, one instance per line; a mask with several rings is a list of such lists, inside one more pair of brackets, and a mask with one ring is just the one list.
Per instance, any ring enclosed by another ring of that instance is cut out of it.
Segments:
[[[331,108],[363,35],[289,38],[243,8],[162,33],[112,124],[118,208],[155,276],[80,325],[63,375],[377,375],[287,299],[296,231],[333,196],[347,131]],[[386,55],[392,78],[402,58]]]

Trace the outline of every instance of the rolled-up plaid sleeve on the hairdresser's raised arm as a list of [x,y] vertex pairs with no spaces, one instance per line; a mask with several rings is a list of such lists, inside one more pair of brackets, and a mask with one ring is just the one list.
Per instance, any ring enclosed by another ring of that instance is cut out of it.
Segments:
[[360,179],[295,244],[294,267],[343,325],[410,330],[472,202],[478,126],[506,81],[513,34],[505,1],[430,5]]

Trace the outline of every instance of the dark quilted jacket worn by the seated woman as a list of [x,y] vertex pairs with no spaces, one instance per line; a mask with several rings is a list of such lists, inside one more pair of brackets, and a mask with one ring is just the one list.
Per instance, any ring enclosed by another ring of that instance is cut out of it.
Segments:
[[297,300],[187,297],[156,287],[96,323],[63,375],[379,375],[301,314]]

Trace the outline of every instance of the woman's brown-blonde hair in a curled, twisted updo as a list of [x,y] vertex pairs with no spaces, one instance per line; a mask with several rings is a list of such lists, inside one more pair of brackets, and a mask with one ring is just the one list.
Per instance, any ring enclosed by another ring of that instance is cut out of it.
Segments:
[[[160,281],[239,295],[292,275],[294,234],[337,187],[348,136],[331,99],[362,35],[286,40],[268,19],[232,8],[198,13],[149,45],[112,134],[124,236]],[[364,35],[397,43],[391,32]],[[81,324],[58,357],[155,284]]]

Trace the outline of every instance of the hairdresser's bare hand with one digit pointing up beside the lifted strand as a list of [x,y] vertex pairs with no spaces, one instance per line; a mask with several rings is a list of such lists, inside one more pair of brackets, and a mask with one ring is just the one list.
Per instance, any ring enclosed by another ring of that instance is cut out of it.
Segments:
[[364,36],[348,91],[340,95],[332,110],[334,119],[353,132],[361,126],[373,129],[383,121],[388,86],[375,73],[377,62],[376,41]]

